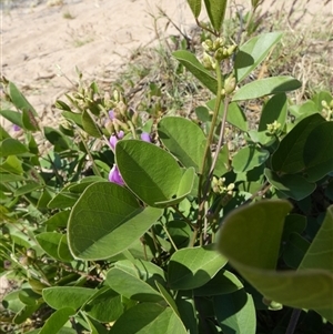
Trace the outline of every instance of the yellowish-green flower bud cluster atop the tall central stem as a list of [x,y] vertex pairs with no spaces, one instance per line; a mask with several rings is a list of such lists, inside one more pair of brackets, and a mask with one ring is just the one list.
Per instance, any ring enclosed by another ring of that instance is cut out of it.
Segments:
[[219,62],[230,58],[236,50],[236,44],[226,44],[224,38],[219,37],[214,41],[208,39],[202,42],[202,48],[205,51],[202,59],[202,64],[208,70],[214,70],[216,67],[215,60]]

